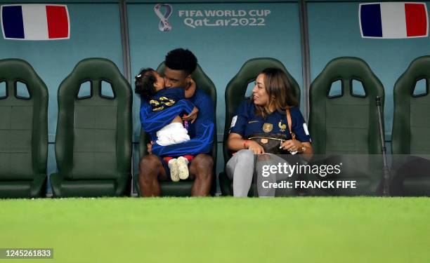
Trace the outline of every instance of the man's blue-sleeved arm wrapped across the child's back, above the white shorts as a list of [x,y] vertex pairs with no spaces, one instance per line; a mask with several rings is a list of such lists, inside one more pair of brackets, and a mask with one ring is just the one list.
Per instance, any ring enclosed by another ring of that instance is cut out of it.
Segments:
[[194,105],[188,100],[179,100],[174,106],[163,109],[160,112],[152,112],[152,107],[148,102],[141,102],[141,125],[147,133],[156,132],[167,126],[176,116],[182,112],[193,112]]

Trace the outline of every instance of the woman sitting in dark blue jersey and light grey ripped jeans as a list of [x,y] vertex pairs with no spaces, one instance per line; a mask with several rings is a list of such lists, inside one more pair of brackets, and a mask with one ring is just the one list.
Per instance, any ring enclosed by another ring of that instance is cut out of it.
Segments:
[[254,174],[254,154],[258,154],[255,169],[259,196],[275,196],[276,189],[267,187],[268,183],[263,181],[294,177],[286,173],[262,175],[263,166],[285,163],[280,156],[264,151],[262,145],[271,140],[266,137],[278,138],[277,148],[285,150],[282,154],[303,154],[306,159],[313,154],[311,136],[292,95],[287,74],[276,68],[264,69],[257,76],[251,100],[240,104],[231,122],[227,145],[235,154],[226,165],[226,173],[233,180],[234,196],[248,194]]

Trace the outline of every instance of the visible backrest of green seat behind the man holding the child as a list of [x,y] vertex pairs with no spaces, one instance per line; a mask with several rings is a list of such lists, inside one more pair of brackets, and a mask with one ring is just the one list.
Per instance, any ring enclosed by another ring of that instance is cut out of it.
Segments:
[[[157,72],[164,72],[164,62],[162,62],[158,68]],[[203,90],[205,93],[207,93],[212,101],[214,102],[214,117],[216,116],[216,88],[214,83],[209,79],[207,74],[203,72],[202,67],[200,65],[197,65],[197,68],[192,74],[192,78],[197,84],[197,88],[200,90]],[[214,119],[214,130],[216,130],[216,121]],[[146,144],[150,141],[150,135],[148,133],[145,133],[143,129],[141,129],[141,137],[139,140],[139,155],[142,158],[145,156],[148,151]],[[214,133],[214,146],[212,148],[212,159],[214,160],[214,163],[216,163],[216,133]],[[216,168],[216,165],[214,165],[214,169]]]

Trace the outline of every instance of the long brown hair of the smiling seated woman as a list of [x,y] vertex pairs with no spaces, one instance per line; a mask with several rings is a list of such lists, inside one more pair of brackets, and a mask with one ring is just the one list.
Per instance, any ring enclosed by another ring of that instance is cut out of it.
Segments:
[[[268,67],[263,69],[260,74],[264,74],[264,86],[269,97],[269,104],[275,104],[275,109],[278,112],[285,113],[286,109],[298,105],[296,98],[292,94],[288,76],[282,69]],[[256,114],[263,117],[263,119],[270,114],[266,107],[255,106]]]

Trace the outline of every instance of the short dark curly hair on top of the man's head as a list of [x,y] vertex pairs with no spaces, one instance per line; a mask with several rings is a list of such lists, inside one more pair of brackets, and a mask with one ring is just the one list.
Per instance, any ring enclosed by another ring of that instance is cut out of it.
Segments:
[[197,67],[197,58],[188,49],[176,48],[167,53],[164,64],[169,69],[183,70],[185,74],[189,75]]

